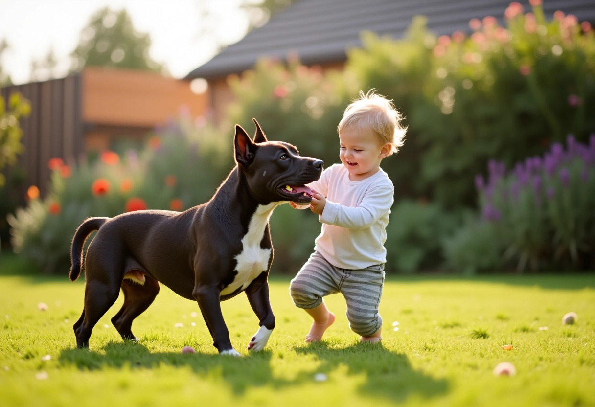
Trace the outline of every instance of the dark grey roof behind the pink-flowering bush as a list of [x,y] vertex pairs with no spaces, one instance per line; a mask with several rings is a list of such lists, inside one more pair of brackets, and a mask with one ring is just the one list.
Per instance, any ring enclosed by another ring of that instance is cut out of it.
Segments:
[[[525,11],[531,10],[528,0],[519,2]],[[294,0],[187,79],[240,73],[261,57],[285,60],[288,53],[297,53],[304,64],[345,61],[346,49],[361,45],[359,34],[364,30],[399,38],[415,15],[425,15],[428,29],[438,35],[468,32],[471,18],[492,15],[502,24],[509,4],[509,0]],[[543,10],[548,18],[562,10],[579,21],[595,21],[593,0],[544,0]]]

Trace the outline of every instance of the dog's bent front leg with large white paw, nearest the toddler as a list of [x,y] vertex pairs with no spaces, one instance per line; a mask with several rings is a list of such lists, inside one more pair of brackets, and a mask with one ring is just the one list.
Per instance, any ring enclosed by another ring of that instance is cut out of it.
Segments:
[[264,272],[246,287],[246,296],[252,306],[252,310],[258,317],[260,328],[248,343],[248,350],[258,352],[268,342],[273,329],[275,328],[275,315],[271,309],[271,302],[268,296],[267,273]]

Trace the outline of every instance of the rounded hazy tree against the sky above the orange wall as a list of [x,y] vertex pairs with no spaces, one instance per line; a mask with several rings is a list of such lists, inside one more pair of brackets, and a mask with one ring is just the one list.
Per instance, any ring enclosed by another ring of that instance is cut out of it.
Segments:
[[126,10],[99,10],[82,30],[79,45],[71,54],[72,71],[84,66],[162,71],[163,65],[149,57],[151,37],[134,29]]

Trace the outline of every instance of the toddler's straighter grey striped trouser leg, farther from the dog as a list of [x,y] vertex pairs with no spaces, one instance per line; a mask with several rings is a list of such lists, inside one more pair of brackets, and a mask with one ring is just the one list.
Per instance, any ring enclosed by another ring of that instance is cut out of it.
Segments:
[[378,304],[384,283],[383,265],[373,265],[362,270],[350,270],[341,285],[347,303],[349,327],[356,334],[370,336],[382,326]]

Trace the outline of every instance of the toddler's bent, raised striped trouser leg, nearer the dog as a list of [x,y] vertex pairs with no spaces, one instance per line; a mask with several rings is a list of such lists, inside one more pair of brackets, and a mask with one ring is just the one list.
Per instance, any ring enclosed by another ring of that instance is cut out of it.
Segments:
[[[312,253],[306,264],[289,284],[289,293],[298,308],[315,308],[322,297],[338,293],[341,272],[318,252]],[[338,277],[338,279],[337,279]]]

